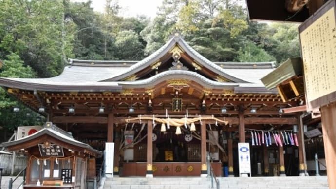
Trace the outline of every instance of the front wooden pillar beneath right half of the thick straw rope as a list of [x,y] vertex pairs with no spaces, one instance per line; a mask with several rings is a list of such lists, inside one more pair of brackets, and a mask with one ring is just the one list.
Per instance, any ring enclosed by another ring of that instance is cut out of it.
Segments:
[[206,166],[206,122],[201,124],[201,176],[207,176]]

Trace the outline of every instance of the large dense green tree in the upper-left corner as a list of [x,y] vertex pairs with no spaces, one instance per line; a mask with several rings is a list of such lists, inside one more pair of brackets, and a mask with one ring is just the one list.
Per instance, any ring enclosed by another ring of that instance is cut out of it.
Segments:
[[62,72],[72,57],[73,23],[64,20],[66,1],[2,0],[0,27],[2,57],[16,53],[38,76]]

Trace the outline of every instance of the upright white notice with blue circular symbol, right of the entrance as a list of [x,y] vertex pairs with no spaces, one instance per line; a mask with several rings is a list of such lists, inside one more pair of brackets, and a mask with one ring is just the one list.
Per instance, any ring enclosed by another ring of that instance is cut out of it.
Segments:
[[239,175],[249,174],[251,176],[250,143],[238,143]]

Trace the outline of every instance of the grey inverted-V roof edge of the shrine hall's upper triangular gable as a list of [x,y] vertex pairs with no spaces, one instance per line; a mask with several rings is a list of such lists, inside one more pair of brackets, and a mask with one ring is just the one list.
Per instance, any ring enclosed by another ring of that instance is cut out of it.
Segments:
[[243,80],[241,78],[238,78],[236,76],[232,76],[229,73],[227,73],[226,70],[221,68],[220,66],[216,65],[215,63],[211,62],[207,58],[200,55],[196,50],[194,50],[191,46],[187,44],[185,40],[183,40],[180,36],[174,36],[171,38],[165,45],[163,45],[160,49],[155,51],[153,54],[149,55],[145,59],[139,61],[138,63],[132,65],[128,69],[125,70],[124,73],[106,78],[101,81],[120,81],[122,79],[128,78],[144,68],[156,63],[161,57],[163,57],[165,54],[167,54],[174,46],[179,45],[183,51],[185,51],[191,58],[193,58],[195,61],[197,61],[199,64],[201,64],[203,67],[211,70],[212,72],[218,74],[219,76],[222,76],[224,78],[227,78],[233,82],[236,83],[250,83],[247,80]]

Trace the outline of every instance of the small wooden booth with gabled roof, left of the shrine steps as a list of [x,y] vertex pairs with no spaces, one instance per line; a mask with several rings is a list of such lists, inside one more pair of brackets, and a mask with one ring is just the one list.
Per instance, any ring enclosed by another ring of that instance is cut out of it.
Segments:
[[101,151],[75,140],[51,122],[32,135],[2,143],[2,146],[27,155],[24,189],[85,189],[90,173],[95,175],[95,162],[88,165],[90,159],[102,155]]

